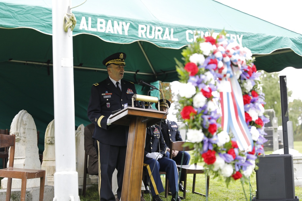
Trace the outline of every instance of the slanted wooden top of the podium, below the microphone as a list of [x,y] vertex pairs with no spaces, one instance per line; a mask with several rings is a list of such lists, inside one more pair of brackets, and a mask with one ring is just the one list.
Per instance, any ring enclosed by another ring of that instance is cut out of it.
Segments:
[[167,114],[164,111],[153,109],[127,107],[115,113],[109,119],[111,124],[129,126],[133,118],[141,117],[142,121],[146,121],[147,127],[149,127],[160,122],[162,119],[167,119]]

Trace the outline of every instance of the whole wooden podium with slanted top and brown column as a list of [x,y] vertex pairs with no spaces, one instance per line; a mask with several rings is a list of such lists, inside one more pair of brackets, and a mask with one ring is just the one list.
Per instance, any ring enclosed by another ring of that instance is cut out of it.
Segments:
[[129,126],[121,201],[140,200],[146,128],[166,119],[166,112],[127,107],[110,117],[111,124]]

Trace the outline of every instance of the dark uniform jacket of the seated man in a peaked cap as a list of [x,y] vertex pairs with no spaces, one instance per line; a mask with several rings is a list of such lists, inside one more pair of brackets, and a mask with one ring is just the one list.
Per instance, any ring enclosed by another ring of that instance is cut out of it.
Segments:
[[167,147],[170,148],[170,141],[182,141],[182,136],[180,135],[178,126],[175,121],[168,120],[168,124],[162,122],[161,129]]

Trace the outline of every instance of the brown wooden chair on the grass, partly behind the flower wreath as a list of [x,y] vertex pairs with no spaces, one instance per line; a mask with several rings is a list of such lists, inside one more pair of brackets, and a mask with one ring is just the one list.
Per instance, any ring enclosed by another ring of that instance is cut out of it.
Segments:
[[[173,150],[177,150],[177,151],[190,151],[193,150],[194,148],[190,149],[188,146],[187,147],[183,147],[183,144],[185,143],[185,141],[177,141],[177,142],[173,142],[171,141],[170,143],[170,159],[172,159],[172,151]],[[194,174],[193,175],[193,186],[192,186],[192,193],[196,193],[199,195],[203,195],[206,196],[202,193],[198,193],[195,191],[195,181],[196,181],[196,174],[204,174],[204,167],[197,165],[197,163],[195,163],[194,165],[177,165],[178,170],[180,168],[182,168],[182,172],[185,172],[185,181],[184,181],[184,194],[183,194],[183,199],[186,199],[186,188],[187,188],[187,174]],[[210,184],[210,176],[207,175],[207,192],[209,192],[209,184]],[[169,193],[170,194],[170,193]]]

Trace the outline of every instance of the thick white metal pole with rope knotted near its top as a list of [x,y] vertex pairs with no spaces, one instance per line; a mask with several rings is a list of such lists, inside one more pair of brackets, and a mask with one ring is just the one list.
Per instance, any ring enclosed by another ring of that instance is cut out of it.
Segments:
[[73,84],[72,31],[63,29],[71,0],[52,1],[53,96],[55,121],[56,172],[53,201],[79,201],[76,171],[75,106]]

